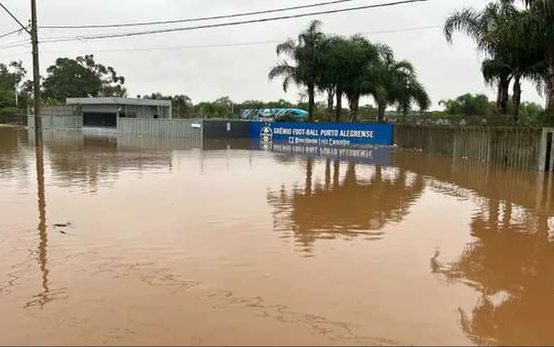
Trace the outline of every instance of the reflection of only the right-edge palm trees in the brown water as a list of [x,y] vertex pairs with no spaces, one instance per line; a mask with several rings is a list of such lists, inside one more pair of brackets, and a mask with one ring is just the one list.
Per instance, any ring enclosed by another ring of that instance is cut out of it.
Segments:
[[554,344],[554,243],[549,215],[542,209],[524,210],[509,201],[488,198],[471,221],[475,239],[458,261],[440,264],[436,254],[433,257],[433,272],[480,292],[471,312],[459,309],[461,329],[473,343]]

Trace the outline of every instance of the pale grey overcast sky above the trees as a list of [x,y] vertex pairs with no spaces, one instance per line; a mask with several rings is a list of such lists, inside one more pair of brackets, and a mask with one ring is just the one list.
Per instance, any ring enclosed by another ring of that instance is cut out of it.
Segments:
[[[38,0],[39,25],[111,24],[142,21],[217,16],[263,9],[281,8],[324,0]],[[266,14],[321,11],[323,9],[384,3],[389,0],[356,0],[350,3]],[[3,0],[5,6],[24,23],[30,18],[28,0]],[[485,93],[494,99],[494,89],[483,83],[481,57],[471,40],[456,34],[454,44],[445,42],[442,29],[421,28],[441,25],[455,8],[482,8],[488,0],[429,0],[427,3],[403,4],[396,7],[365,9],[356,12],[325,14],[317,17],[244,24],[235,27],[199,29],[188,32],[162,33],[142,37],[94,40],[86,42],[44,43],[40,46],[41,74],[57,57],[76,57],[93,53],[99,63],[111,65],[126,78],[129,96],[159,91],[163,94],[186,94],[194,102],[214,100],[228,95],[235,101],[248,99],[290,101],[298,99],[298,90],[284,93],[279,81],[268,81],[271,65],[278,59],[275,42],[295,37],[311,19],[320,19],[327,33],[350,35],[370,33],[374,41],[390,45],[398,59],[410,60],[417,69],[439,109],[438,101],[463,93]],[[242,21],[253,17],[202,22]],[[200,23],[157,25],[155,28],[186,27]],[[17,29],[17,24],[0,9],[0,34]],[[148,27],[150,28],[150,27]],[[42,29],[41,40],[76,37],[83,34],[115,33],[144,30],[146,27],[96,30]],[[384,32],[392,30],[393,32]],[[404,31],[394,31],[404,30]],[[381,33],[376,33],[381,32]],[[25,35],[0,39],[0,47],[23,42]],[[223,47],[222,47],[223,45]],[[211,46],[211,47],[199,47]],[[219,46],[219,47],[214,47]],[[162,48],[162,49],[160,49]],[[141,50],[136,50],[141,49]],[[145,50],[147,49],[147,50]],[[0,48],[0,62],[23,60],[31,71],[28,47]],[[29,73],[29,78],[32,74]],[[544,105],[534,86],[524,84],[522,99]],[[363,101],[372,102],[368,99]]]

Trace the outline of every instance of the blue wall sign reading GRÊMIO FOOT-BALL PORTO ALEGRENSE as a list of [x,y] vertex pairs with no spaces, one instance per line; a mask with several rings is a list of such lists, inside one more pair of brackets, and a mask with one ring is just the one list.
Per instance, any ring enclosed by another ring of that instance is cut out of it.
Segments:
[[250,138],[290,145],[392,145],[388,123],[280,123],[252,122]]

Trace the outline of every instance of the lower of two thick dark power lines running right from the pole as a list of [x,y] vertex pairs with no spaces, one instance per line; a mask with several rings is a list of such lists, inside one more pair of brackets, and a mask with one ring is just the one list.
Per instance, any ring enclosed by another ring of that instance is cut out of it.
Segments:
[[381,4],[366,5],[366,6],[349,7],[349,8],[341,8],[341,9],[330,9],[330,10],[327,10],[327,11],[301,13],[301,14],[291,14],[289,16],[250,19],[248,21],[241,21],[241,22],[207,24],[207,25],[197,25],[197,26],[194,26],[194,27],[147,30],[147,31],[142,31],[142,32],[130,32],[130,33],[119,33],[119,34],[103,34],[103,35],[92,35],[92,36],[83,35],[83,36],[80,36],[80,37],[75,37],[74,39],[68,38],[68,39],[59,39],[59,40],[43,40],[43,42],[47,43],[47,42],[64,42],[64,41],[71,41],[71,40],[96,40],[96,39],[107,39],[107,38],[133,37],[133,36],[148,35],[148,34],[180,32],[180,31],[188,31],[188,30],[207,29],[207,28],[229,27],[229,26],[234,26],[234,25],[251,24],[251,23],[263,23],[263,22],[280,21],[280,20],[283,20],[283,19],[293,19],[293,18],[300,18],[300,17],[317,16],[317,15],[320,15],[320,14],[331,14],[331,13],[340,13],[340,12],[359,11],[361,9],[368,9],[368,8],[391,7],[391,6],[398,6],[398,5],[401,5],[401,4],[426,2],[426,1],[428,1],[428,0],[401,0],[401,1],[396,1],[396,2],[387,2],[387,3],[381,3]]

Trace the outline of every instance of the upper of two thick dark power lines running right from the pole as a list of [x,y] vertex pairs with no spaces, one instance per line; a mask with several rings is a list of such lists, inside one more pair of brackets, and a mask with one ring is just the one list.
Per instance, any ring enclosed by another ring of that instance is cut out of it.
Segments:
[[124,23],[124,24],[43,25],[40,28],[42,28],[42,29],[122,28],[122,27],[139,27],[141,25],[157,25],[157,24],[175,24],[175,23],[185,23],[185,22],[200,22],[200,21],[210,21],[210,20],[213,20],[213,19],[245,17],[245,16],[253,16],[255,14],[267,14],[267,13],[274,13],[274,12],[291,11],[291,10],[294,10],[294,9],[303,9],[303,8],[310,8],[310,7],[321,7],[321,6],[327,6],[327,5],[345,3],[345,2],[352,2],[352,1],[355,1],[355,0],[334,0],[334,1],[320,2],[320,3],[308,4],[308,5],[291,6],[291,7],[283,7],[283,8],[275,8],[275,9],[266,9],[266,10],[263,10],[263,11],[235,13],[235,14],[224,14],[222,16],[212,16],[212,17],[175,19],[173,21],[139,22],[139,23]]

